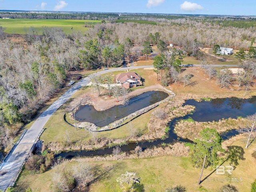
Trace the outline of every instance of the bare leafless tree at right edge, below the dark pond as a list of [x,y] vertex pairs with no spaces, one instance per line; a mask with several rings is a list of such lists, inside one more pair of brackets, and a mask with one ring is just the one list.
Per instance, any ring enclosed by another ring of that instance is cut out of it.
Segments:
[[254,113],[253,115],[248,115],[246,118],[248,120],[246,127],[241,128],[239,132],[244,133],[248,136],[245,146],[245,148],[247,149],[251,142],[255,139],[254,132],[256,131],[256,113]]

